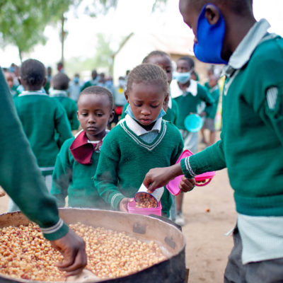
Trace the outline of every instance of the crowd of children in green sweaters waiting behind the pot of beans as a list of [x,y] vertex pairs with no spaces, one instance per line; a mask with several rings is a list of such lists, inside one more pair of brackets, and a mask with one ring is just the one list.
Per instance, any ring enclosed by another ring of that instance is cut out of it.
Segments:
[[[59,207],[126,212],[151,168],[175,164],[190,148],[190,142],[183,144],[185,116],[200,112],[202,100],[207,108],[213,105],[209,92],[190,78],[193,67],[190,57],[182,57],[173,73],[170,56],[156,50],[126,78],[120,76],[117,88],[96,69],[91,80],[81,84],[79,74],[70,81],[63,64],[52,76],[52,69],[45,73],[35,59],[21,65],[19,87],[15,73],[4,69],[11,93],[16,90],[12,94],[18,117]],[[182,75],[185,82],[180,82]],[[176,216],[176,198],[164,190],[163,215],[183,225],[179,203]],[[8,211],[16,209],[10,201]]]

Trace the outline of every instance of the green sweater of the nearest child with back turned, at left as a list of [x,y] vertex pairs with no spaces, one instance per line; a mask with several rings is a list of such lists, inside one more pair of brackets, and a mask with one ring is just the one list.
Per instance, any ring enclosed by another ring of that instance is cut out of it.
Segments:
[[14,103],[42,175],[52,174],[59,148],[72,137],[66,111],[59,101],[43,93],[20,95]]

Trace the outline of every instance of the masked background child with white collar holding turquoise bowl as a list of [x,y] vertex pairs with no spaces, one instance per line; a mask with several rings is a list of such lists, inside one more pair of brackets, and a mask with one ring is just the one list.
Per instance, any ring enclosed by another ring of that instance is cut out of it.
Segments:
[[[171,94],[179,107],[179,118],[177,127],[180,129],[184,140],[184,149],[189,149],[193,154],[197,153],[198,132],[188,132],[185,129],[185,118],[192,113],[199,113],[204,117],[209,114],[209,111],[214,104],[213,98],[207,90],[197,81],[191,79],[192,71],[195,67],[195,62],[188,56],[180,57],[177,61],[177,72],[175,72],[175,80],[171,83]],[[206,107],[203,112],[200,112],[202,102]],[[183,193],[176,197],[177,216],[176,223],[180,226],[185,225],[183,216]]]

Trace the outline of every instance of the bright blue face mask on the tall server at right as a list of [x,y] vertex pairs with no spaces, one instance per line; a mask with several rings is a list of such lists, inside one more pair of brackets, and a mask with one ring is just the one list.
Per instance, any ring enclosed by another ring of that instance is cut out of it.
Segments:
[[197,19],[197,43],[194,45],[195,57],[205,63],[228,64],[228,61],[221,58],[225,35],[224,18],[217,8],[219,21],[215,25],[210,25],[207,18],[205,18],[206,7],[207,5],[202,8]]

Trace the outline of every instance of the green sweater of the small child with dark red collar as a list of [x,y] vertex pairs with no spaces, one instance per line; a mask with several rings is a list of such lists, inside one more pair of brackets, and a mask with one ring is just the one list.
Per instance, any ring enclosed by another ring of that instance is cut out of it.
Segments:
[[93,152],[91,164],[77,162],[69,149],[74,139],[67,139],[57,155],[51,195],[56,197],[59,207],[64,207],[65,198],[68,196],[69,207],[108,209],[109,205],[98,195],[93,184],[99,152]]

